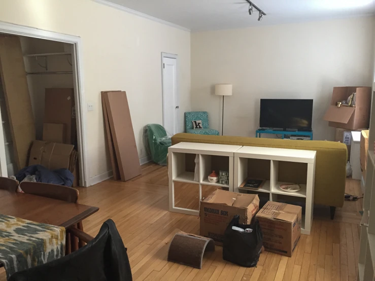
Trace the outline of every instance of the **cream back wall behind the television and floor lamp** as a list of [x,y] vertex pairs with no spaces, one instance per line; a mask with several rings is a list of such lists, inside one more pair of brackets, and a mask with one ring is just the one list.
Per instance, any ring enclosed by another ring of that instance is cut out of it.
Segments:
[[312,98],[314,139],[333,140],[322,120],[333,86],[372,85],[373,23],[362,17],[192,33],[192,110],[208,111],[210,127],[219,129],[214,85],[233,84],[224,134],[254,136],[261,98]]

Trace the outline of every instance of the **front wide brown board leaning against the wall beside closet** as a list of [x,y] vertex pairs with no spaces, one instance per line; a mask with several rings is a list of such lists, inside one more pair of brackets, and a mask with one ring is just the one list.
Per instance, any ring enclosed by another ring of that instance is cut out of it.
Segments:
[[107,92],[105,104],[122,181],[141,174],[126,92]]

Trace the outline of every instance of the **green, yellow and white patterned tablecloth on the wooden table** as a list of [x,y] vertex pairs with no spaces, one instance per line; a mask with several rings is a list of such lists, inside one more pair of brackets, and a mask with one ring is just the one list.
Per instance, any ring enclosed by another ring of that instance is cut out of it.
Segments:
[[14,272],[63,257],[65,228],[0,214],[0,262]]

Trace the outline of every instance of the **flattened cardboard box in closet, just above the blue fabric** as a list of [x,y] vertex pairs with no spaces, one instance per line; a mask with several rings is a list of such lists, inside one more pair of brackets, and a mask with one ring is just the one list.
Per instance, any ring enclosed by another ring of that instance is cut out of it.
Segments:
[[28,164],[43,165],[50,170],[69,169],[73,148],[73,145],[34,141],[30,150]]

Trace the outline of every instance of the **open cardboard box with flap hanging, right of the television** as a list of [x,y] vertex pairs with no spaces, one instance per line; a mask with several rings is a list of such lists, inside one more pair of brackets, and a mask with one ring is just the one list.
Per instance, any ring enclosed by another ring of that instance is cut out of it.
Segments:
[[[336,106],[337,101],[347,100],[356,93],[356,107]],[[368,128],[370,120],[371,87],[334,87],[330,106],[323,120],[330,127],[356,130]]]

